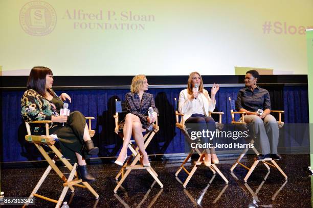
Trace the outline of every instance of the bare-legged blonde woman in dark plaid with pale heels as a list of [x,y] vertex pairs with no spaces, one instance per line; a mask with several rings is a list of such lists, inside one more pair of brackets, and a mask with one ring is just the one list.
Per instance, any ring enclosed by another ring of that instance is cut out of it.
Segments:
[[[123,146],[115,164],[123,166],[127,158],[127,147],[131,135],[139,147],[142,155],[143,166],[150,166],[147,152],[144,148],[143,132],[152,129],[152,123],[158,116],[158,109],[155,108],[153,95],[146,93],[148,90],[148,81],[145,75],[140,74],[133,77],[130,86],[130,92],[126,93],[126,109],[128,114],[120,122],[119,128],[123,131]],[[149,107],[153,108],[153,116],[148,116]]]

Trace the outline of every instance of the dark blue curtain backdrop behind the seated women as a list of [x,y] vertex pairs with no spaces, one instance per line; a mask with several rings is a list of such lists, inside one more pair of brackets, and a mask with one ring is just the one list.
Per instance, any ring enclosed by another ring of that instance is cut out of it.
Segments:
[[[308,123],[308,92],[301,87],[264,87],[269,90],[272,109],[284,110],[285,123]],[[222,87],[216,95],[216,111],[224,112],[223,123],[231,122],[228,98],[237,98],[240,87]],[[160,131],[147,148],[149,154],[184,152],[184,135],[175,127],[174,98],[183,88],[150,89],[155,105],[159,109]],[[210,88],[207,89],[210,92]],[[122,139],[114,133],[115,99],[124,101],[128,89],[117,90],[65,90],[72,97],[71,111],[78,110],[85,116],[93,116],[93,138],[100,148],[98,157],[114,157],[119,152]],[[33,144],[25,141],[26,127],[20,116],[20,98],[22,91],[2,91],[2,141],[0,144],[1,161],[42,160]]]

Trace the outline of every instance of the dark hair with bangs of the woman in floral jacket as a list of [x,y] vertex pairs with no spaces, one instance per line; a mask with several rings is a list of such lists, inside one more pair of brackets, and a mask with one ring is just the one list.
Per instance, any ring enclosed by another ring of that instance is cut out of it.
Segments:
[[46,97],[46,76],[53,75],[51,69],[44,66],[35,66],[32,68],[27,81],[27,89],[37,91],[41,96]]

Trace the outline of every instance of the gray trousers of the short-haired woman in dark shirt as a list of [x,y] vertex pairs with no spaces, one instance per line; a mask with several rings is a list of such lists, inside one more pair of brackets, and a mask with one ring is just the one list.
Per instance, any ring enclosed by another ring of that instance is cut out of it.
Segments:
[[278,145],[278,124],[274,116],[266,115],[264,120],[256,115],[244,116],[244,121],[250,123],[250,131],[253,131],[262,154],[276,154]]

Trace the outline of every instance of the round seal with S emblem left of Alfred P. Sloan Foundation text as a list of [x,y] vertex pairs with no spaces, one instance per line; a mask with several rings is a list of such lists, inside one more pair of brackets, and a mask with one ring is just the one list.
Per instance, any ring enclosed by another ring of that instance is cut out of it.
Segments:
[[48,35],[55,28],[56,12],[46,2],[29,2],[20,10],[19,23],[21,28],[30,35]]

